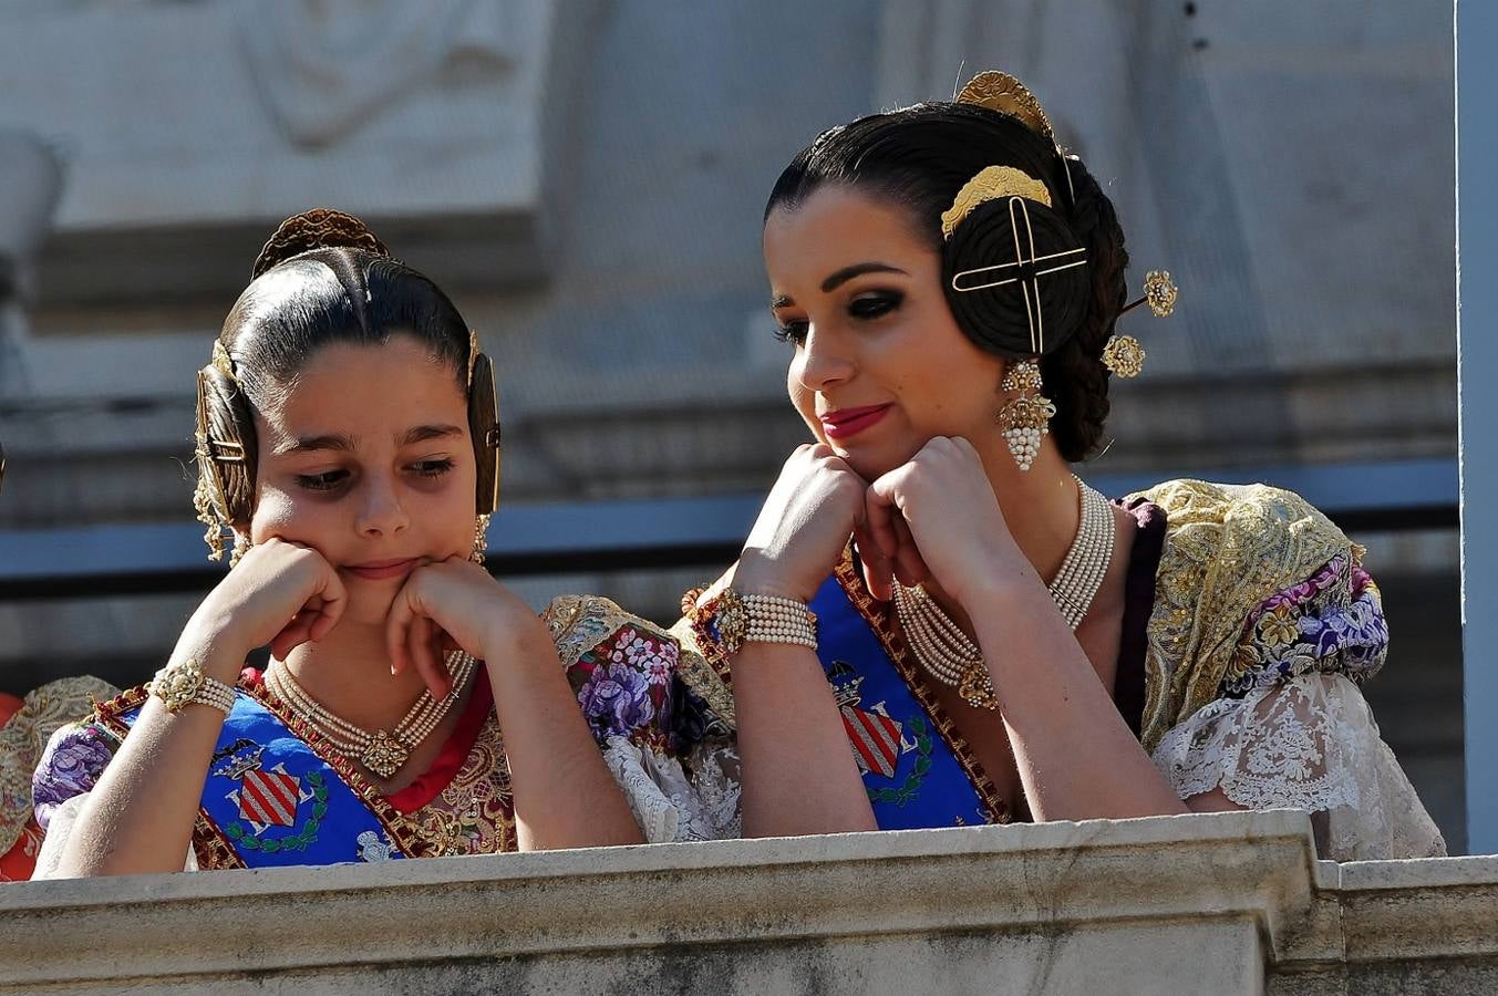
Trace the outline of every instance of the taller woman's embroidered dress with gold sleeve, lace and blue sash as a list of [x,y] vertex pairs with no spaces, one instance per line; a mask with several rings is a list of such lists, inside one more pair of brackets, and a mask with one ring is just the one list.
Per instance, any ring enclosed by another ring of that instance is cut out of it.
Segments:
[[[1113,698],[1179,797],[1221,789],[1248,809],[1311,812],[1335,860],[1444,854],[1359,690],[1389,647],[1362,550],[1261,485],[1170,481],[1124,506],[1137,529]],[[881,828],[1025,818],[917,678],[891,608],[849,557],[810,608]],[[704,741],[682,753],[691,780],[736,795],[730,675],[704,664],[691,623],[673,634],[683,683],[712,704]]]

